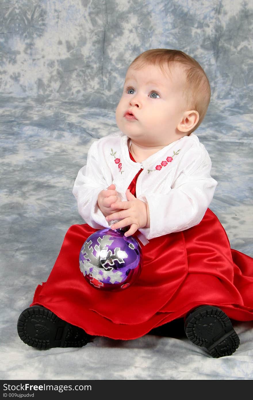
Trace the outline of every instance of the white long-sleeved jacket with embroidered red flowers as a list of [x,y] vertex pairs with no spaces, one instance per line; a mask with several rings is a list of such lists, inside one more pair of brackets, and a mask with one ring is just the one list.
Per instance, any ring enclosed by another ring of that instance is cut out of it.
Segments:
[[116,132],[93,142],[87,164],[78,172],[73,194],[85,222],[96,229],[109,227],[97,205],[101,190],[115,184],[122,200],[137,174],[136,197],[149,206],[150,228],[139,231],[147,239],[179,232],[199,224],[209,206],[216,180],[211,160],[195,134],[165,146],[142,163],[129,157],[127,136]]

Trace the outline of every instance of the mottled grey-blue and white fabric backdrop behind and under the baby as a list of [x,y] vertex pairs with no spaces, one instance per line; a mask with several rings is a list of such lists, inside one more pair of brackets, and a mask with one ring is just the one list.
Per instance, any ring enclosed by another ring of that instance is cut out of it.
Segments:
[[253,256],[253,0],[0,0],[1,379],[241,380],[253,376],[253,324],[213,359],[183,331],[96,338],[39,352],[16,323],[82,224],[72,187],[114,112],[130,62],[150,48],[194,57],[212,98],[195,132],[218,181],[210,208],[231,247]]

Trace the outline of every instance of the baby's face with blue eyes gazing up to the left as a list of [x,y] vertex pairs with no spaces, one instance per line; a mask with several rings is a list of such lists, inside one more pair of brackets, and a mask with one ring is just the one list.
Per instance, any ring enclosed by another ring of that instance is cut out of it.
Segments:
[[116,109],[119,129],[142,146],[167,146],[184,136],[177,130],[186,110],[182,68],[130,67]]

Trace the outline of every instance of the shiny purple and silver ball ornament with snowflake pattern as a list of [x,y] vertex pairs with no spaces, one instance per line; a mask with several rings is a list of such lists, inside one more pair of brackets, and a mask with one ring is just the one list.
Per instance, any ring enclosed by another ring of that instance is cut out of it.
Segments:
[[98,230],[84,242],[79,265],[95,288],[126,289],[141,273],[141,247],[133,236],[124,236],[123,230]]

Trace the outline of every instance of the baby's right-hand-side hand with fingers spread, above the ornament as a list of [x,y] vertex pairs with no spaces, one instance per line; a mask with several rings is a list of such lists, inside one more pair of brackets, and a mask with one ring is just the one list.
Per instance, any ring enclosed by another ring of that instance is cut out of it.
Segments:
[[124,228],[124,226],[130,225],[129,230],[125,232],[125,236],[130,236],[139,228],[149,228],[149,208],[145,202],[133,196],[129,189],[126,191],[126,198],[128,201],[111,204],[111,208],[115,211],[117,208],[121,208],[121,210],[107,216],[106,220],[120,220],[111,226],[112,229]]

